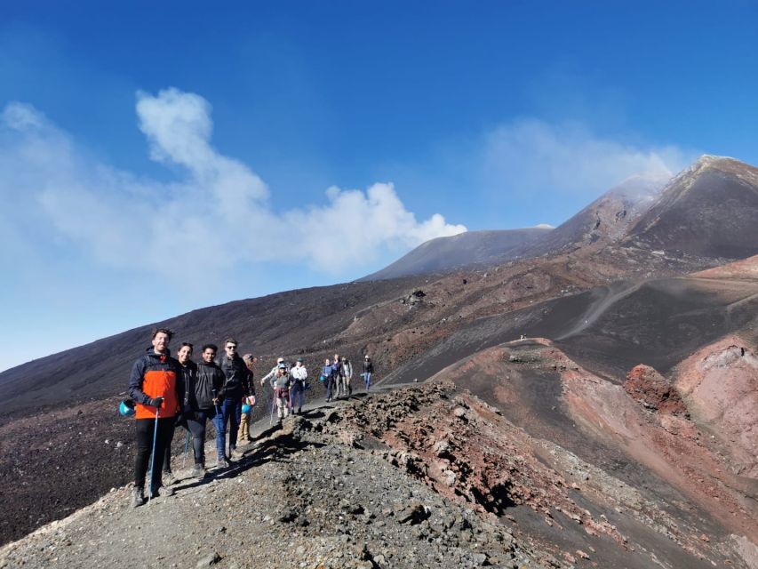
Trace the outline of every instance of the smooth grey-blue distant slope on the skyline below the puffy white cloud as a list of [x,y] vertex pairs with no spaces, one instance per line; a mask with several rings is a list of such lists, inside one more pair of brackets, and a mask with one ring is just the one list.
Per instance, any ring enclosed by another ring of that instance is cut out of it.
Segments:
[[362,281],[378,281],[398,276],[443,273],[456,268],[483,267],[510,260],[509,252],[539,241],[552,228],[536,227],[497,231],[467,231],[437,237],[420,244],[385,268],[364,276]]

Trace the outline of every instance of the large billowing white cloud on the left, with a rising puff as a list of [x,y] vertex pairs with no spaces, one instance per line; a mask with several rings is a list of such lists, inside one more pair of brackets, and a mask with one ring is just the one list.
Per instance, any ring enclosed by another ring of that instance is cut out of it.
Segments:
[[6,210],[4,220],[20,227],[19,215],[34,215],[50,239],[62,237],[117,268],[164,276],[177,276],[176,260],[187,257],[202,259],[209,273],[285,258],[339,274],[387,248],[466,230],[439,214],[417,221],[391,183],[365,191],[328,188],[324,205],[275,212],[263,180],[211,146],[208,101],[177,89],[139,92],[137,114],[151,158],[180,166],[183,179],[145,180],[100,164],[35,108],[6,106],[0,196],[22,204],[20,212]]

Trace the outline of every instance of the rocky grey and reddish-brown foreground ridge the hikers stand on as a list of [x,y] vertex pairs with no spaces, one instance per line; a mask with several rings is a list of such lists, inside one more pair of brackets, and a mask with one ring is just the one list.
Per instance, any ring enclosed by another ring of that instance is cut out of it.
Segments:
[[308,413],[245,454],[140,509],[109,493],[0,549],[0,567],[747,568],[754,548],[450,383]]

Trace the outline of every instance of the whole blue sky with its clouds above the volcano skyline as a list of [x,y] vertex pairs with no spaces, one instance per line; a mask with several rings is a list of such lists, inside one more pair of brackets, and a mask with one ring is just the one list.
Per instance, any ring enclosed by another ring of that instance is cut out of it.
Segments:
[[751,2],[10,4],[0,369],[758,164]]

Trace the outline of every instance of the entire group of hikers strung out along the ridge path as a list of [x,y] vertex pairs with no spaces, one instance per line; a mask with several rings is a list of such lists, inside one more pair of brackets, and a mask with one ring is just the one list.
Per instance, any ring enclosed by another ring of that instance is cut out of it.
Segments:
[[[137,421],[137,454],[134,462],[134,491],[132,506],[145,503],[145,477],[150,469],[148,499],[159,495],[171,496],[170,487],[176,478],[172,474],[171,453],[174,430],[180,426],[192,439],[195,466],[190,477],[205,475],[205,429],[211,420],[216,429],[216,462],[214,468],[227,468],[230,460],[242,458],[237,443],[252,441],[251,412],[256,403],[253,381],[253,364],[257,358],[251,354],[240,357],[238,342],[234,338],[224,341],[224,351],[216,361],[218,346],[205,344],[201,359],[192,360],[194,347],[183,342],[173,358],[169,343],[173,333],[167,328],[157,328],[152,333],[151,346],[132,365],[129,379],[131,400],[121,404],[123,414],[132,415]],[[363,381],[371,389],[373,373],[371,357],[363,361]],[[324,360],[319,381],[326,388],[326,401],[349,397],[353,393],[350,381],[353,365],[347,357],[335,354]],[[283,357],[260,380],[260,385],[269,382],[273,388],[274,406],[278,421],[290,414],[302,413],[305,392],[310,387],[303,358],[290,366]],[[228,430],[227,430],[228,425]],[[228,432],[228,454],[227,454]],[[151,461],[152,456],[152,461]]]

